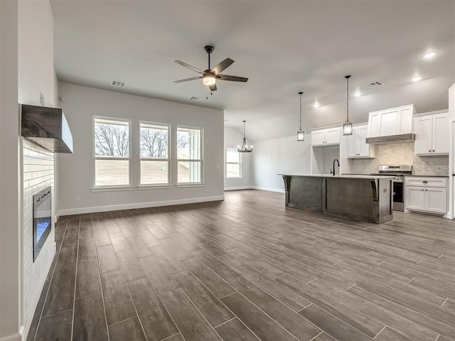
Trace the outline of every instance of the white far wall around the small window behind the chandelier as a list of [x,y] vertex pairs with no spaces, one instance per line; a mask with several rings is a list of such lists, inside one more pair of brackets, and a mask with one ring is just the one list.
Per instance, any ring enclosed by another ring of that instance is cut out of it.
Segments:
[[[248,136],[247,136],[248,137]],[[236,128],[230,128],[225,126],[225,162],[223,163],[225,169],[224,174],[226,177],[226,149],[229,147],[237,148],[238,145],[242,145],[243,133]],[[248,139],[247,139],[248,141]],[[255,153],[255,151],[252,151]],[[241,190],[251,188],[251,159],[252,153],[240,153],[242,158],[242,178],[241,179],[226,179],[225,178],[225,190]]]

